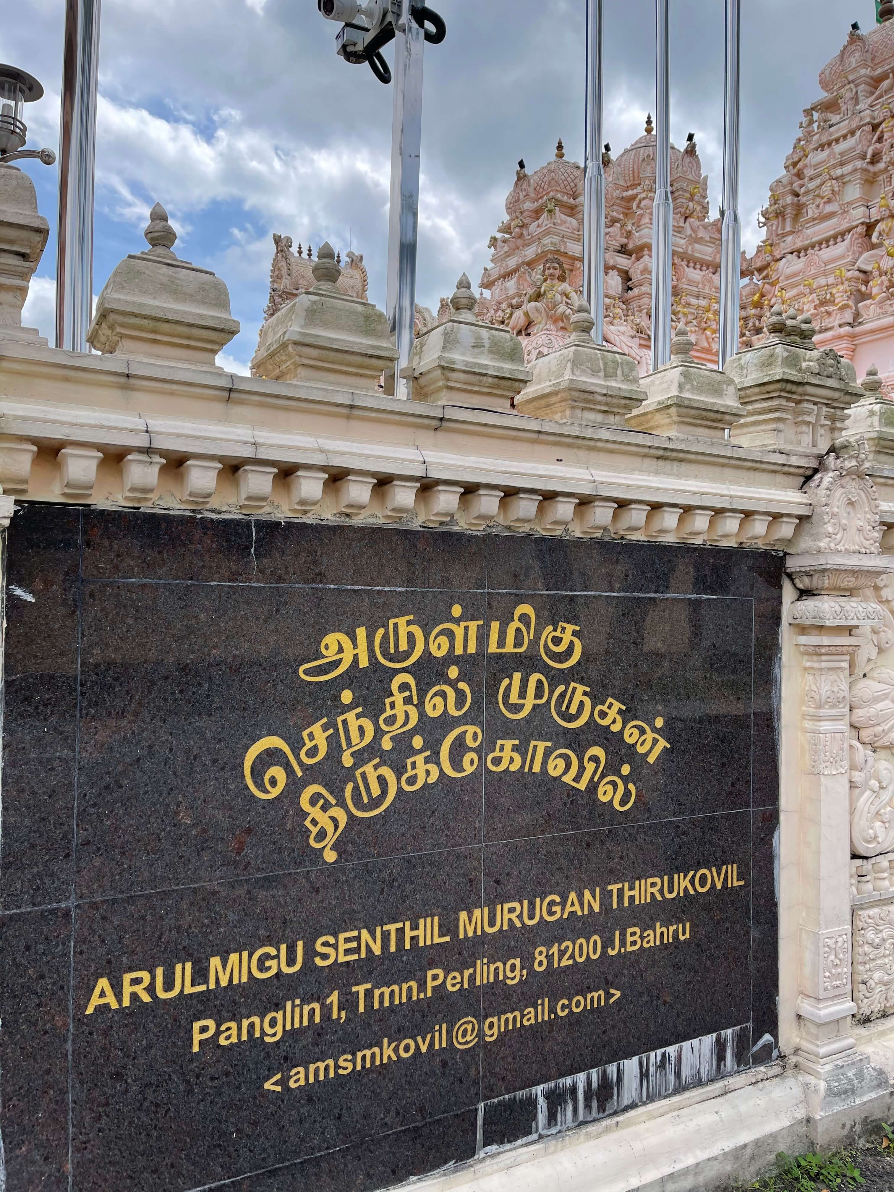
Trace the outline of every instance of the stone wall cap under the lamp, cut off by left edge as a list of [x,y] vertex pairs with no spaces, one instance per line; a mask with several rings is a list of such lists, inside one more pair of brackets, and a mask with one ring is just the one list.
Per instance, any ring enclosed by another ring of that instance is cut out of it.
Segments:
[[21,325],[21,308],[49,231],[29,175],[15,166],[0,166],[0,341],[46,347],[36,327]]

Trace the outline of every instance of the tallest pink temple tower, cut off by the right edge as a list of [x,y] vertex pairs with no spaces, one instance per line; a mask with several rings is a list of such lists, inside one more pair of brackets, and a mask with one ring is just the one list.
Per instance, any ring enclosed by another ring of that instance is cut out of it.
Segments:
[[[889,10],[889,11],[887,11]],[[818,347],[875,364],[894,396],[894,5],[875,29],[852,29],[820,70],[822,98],[803,110],[784,172],[760,213],[747,262],[743,336],[763,333],[781,303],[809,313]]]

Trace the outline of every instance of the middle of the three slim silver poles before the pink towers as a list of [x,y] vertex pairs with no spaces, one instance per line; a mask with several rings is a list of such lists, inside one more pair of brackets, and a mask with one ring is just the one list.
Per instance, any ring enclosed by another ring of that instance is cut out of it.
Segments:
[[670,37],[668,0],[656,0],[656,179],[652,204],[652,368],[670,360],[673,204],[670,193]]

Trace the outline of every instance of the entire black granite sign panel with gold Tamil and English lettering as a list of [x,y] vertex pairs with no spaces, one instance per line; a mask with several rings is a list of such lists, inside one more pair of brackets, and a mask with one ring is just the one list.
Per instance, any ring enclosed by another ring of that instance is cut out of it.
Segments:
[[627,1062],[653,1097],[769,1060],[781,577],[741,550],[25,507],[10,1186],[68,1187],[70,1147],[73,1192],[366,1192],[578,1120],[569,1080],[601,1116]]

